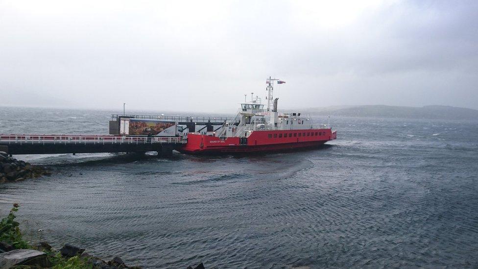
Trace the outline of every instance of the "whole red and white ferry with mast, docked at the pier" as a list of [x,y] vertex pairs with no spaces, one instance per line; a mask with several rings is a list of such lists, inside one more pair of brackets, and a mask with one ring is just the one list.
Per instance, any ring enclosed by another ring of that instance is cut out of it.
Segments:
[[273,98],[274,83],[285,83],[269,77],[266,80],[267,107],[259,97],[240,104],[237,116],[219,128],[204,133],[190,132],[187,143],[179,149],[188,154],[231,154],[273,152],[313,148],[337,138],[329,124],[313,125],[299,112],[279,112],[279,98]]

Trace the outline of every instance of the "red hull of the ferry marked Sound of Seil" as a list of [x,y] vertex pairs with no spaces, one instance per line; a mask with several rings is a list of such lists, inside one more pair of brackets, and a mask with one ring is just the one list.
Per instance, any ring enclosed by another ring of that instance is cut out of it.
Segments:
[[188,134],[188,143],[179,151],[188,154],[221,154],[242,152],[273,152],[313,148],[336,139],[331,129],[254,131],[247,140],[228,137]]

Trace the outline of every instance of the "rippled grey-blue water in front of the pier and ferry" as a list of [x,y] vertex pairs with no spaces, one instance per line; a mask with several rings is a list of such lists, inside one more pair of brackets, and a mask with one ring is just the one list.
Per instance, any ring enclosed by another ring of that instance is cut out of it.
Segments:
[[53,175],[0,185],[1,213],[145,268],[478,267],[476,124],[336,121],[332,146],[293,153],[29,156]]

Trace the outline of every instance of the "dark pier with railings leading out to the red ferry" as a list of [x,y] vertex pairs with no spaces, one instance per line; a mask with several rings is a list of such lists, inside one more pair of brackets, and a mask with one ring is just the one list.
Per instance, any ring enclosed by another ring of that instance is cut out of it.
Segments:
[[[120,122],[153,120],[174,122],[174,132],[170,136],[128,135],[121,133]],[[111,115],[109,135],[40,135],[40,134],[0,134],[0,151],[8,154],[59,154],[59,153],[100,153],[100,152],[147,152],[156,151],[158,156],[169,156],[172,150],[187,143],[188,132],[215,130],[228,117],[188,117],[188,116],[150,116],[150,115]],[[178,132],[176,125],[184,127]]]

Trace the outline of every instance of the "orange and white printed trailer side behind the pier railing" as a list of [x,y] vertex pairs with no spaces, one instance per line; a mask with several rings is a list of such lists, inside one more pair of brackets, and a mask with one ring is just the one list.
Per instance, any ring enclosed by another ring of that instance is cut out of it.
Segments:
[[175,136],[176,122],[130,119],[129,135]]

